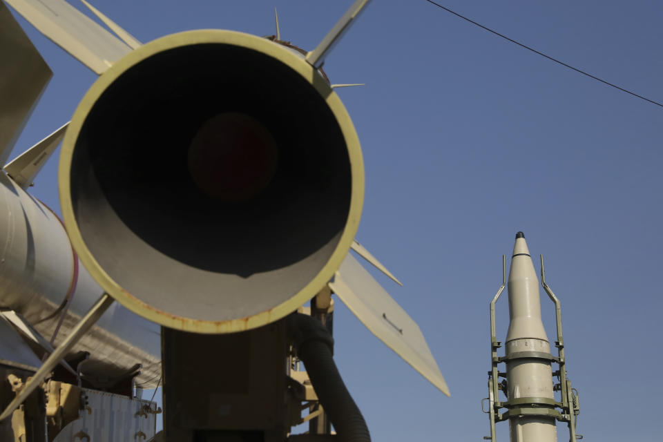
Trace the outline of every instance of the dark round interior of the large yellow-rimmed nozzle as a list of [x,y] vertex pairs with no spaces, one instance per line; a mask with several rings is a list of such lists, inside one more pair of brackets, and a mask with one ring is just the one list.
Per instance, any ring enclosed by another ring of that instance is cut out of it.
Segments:
[[226,44],[126,70],[86,118],[70,178],[81,234],[113,280],[157,309],[213,320],[269,309],[314,278],[352,191],[320,93]]

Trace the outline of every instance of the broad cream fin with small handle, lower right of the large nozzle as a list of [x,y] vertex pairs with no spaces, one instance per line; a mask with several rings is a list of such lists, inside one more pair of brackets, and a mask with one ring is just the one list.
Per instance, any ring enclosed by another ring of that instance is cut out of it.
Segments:
[[449,396],[419,325],[352,255],[345,258],[329,287],[378,339]]

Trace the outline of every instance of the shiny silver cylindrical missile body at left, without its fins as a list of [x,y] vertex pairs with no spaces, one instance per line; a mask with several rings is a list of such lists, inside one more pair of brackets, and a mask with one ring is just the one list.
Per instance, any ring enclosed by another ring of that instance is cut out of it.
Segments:
[[[0,214],[0,309],[17,311],[46,340],[57,329],[57,347],[103,290],[79,264],[57,215],[2,172]],[[73,353],[80,351],[90,352],[81,367],[90,380],[111,381],[140,363],[137,384],[150,388],[159,381],[160,327],[121,305],[111,306],[79,341]]]

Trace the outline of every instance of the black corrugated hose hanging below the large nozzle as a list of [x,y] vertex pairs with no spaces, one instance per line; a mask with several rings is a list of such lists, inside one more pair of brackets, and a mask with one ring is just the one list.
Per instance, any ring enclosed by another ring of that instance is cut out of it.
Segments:
[[332,349],[334,338],[316,318],[305,314],[289,316],[290,336],[297,356],[304,363],[320,404],[343,442],[370,442],[361,411],[338,373]]

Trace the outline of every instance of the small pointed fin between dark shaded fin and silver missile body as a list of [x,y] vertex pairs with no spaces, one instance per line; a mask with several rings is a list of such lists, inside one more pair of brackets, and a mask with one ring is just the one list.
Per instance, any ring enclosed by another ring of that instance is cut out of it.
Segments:
[[57,131],[6,164],[3,169],[21,188],[27,189],[32,186],[32,180],[35,180],[50,155],[55,152],[55,148],[64,138],[68,126],[69,122],[66,122]]

